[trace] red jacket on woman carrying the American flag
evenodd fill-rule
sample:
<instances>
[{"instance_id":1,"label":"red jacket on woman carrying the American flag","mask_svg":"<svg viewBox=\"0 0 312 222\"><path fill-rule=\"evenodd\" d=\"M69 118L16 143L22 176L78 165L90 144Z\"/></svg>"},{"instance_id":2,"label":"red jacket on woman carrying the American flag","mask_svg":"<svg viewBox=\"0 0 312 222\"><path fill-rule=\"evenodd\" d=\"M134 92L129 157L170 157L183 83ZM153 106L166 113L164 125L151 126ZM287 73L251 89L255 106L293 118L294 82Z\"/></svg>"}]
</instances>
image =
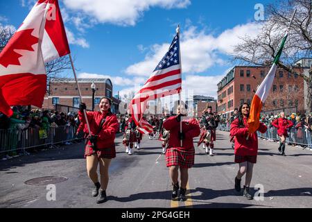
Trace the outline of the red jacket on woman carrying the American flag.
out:
<instances>
[{"instance_id":1,"label":"red jacket on woman carrying the American flag","mask_svg":"<svg viewBox=\"0 0 312 222\"><path fill-rule=\"evenodd\" d=\"M193 137L198 137L200 135L200 127L196 119L189 119L187 121L182 121L182 132L185 138L181 141L178 138L178 133L180 132L180 122L177 121L177 117L169 117L164 121L163 126L166 130L170 131L170 136L168 139L168 147L178 147L182 149L194 148Z\"/></svg>"}]
</instances>

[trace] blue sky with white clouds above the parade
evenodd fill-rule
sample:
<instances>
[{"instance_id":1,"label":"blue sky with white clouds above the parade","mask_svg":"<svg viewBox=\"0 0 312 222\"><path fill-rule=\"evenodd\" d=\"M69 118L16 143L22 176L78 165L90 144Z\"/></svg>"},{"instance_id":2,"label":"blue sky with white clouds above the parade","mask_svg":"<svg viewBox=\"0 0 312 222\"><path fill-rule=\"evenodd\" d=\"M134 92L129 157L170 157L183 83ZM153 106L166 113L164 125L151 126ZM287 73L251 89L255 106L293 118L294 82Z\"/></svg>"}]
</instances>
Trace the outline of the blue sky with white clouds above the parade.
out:
<instances>
[{"instance_id":1,"label":"blue sky with white clouds above the parade","mask_svg":"<svg viewBox=\"0 0 312 222\"><path fill-rule=\"evenodd\" d=\"M59 0L79 77L110 77L114 94L138 89L162 59L180 24L183 85L216 97L234 66L239 36L255 36L254 6L269 0ZM0 26L18 28L33 0L0 1ZM73 78L68 71L65 76Z\"/></svg>"}]
</instances>

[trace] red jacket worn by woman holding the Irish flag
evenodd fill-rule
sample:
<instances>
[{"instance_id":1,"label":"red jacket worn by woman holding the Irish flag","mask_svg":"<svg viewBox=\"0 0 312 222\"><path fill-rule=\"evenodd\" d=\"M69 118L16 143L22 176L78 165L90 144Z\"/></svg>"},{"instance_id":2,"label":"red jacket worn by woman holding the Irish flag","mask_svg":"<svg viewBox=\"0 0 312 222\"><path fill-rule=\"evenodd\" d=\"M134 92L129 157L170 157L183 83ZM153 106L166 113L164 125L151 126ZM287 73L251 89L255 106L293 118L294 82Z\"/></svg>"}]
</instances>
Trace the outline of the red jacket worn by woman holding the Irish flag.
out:
<instances>
[{"instance_id":1,"label":"red jacket worn by woman holding the Irish flag","mask_svg":"<svg viewBox=\"0 0 312 222\"><path fill-rule=\"evenodd\" d=\"M234 119L231 123L230 134L235 137L234 153L235 155L257 155L258 154L258 135L252 133L248 140L248 118L244 118L245 127L239 127L239 118ZM258 130L260 133L266 133L267 127L260 123Z\"/></svg>"}]
</instances>

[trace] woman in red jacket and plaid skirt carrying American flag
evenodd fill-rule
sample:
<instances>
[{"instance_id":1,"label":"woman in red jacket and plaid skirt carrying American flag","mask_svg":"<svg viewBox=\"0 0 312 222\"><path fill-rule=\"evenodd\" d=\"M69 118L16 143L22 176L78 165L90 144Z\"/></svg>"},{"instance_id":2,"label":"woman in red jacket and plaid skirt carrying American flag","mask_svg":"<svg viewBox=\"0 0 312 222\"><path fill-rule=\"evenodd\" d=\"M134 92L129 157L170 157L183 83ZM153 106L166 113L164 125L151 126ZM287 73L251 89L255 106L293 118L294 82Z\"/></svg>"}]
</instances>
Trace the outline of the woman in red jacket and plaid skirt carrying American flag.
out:
<instances>
[{"instance_id":1,"label":"woman in red jacket and plaid skirt carrying American flag","mask_svg":"<svg viewBox=\"0 0 312 222\"><path fill-rule=\"evenodd\" d=\"M184 106L179 105L177 107L177 116L169 117L163 123L164 128L170 131L168 148L166 149L166 166L169 167L169 175L173 185L171 196L172 198L177 197L177 191L179 189L178 170L180 168L180 201L187 200L185 193L187 191L187 181L189 180L188 170L193 166L195 156L193 137L200 135L200 127L196 119L182 121L182 116L185 116L187 113ZM180 121L182 121L182 133L180 133Z\"/></svg>"}]
</instances>

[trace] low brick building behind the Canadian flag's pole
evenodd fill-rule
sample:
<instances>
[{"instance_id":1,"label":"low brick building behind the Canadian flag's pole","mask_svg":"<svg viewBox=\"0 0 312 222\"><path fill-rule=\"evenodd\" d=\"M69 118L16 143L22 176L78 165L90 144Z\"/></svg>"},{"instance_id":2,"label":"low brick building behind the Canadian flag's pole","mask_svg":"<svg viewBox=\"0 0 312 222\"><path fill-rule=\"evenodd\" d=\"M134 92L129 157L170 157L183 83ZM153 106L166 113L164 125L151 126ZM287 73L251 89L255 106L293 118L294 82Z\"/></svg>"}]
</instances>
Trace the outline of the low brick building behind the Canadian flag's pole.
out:
<instances>
[{"instance_id":1,"label":"low brick building behind the Canadian flag's pole","mask_svg":"<svg viewBox=\"0 0 312 222\"><path fill-rule=\"evenodd\" d=\"M98 110L98 104L103 96L112 99L112 112L116 113L120 101L112 97L113 85L109 78L78 78L83 102L87 109L92 110L92 82L95 84L94 110ZM48 93L44 97L44 109L54 109L55 104L79 107L80 99L78 87L74 78L51 79L48 83Z\"/></svg>"}]
</instances>

